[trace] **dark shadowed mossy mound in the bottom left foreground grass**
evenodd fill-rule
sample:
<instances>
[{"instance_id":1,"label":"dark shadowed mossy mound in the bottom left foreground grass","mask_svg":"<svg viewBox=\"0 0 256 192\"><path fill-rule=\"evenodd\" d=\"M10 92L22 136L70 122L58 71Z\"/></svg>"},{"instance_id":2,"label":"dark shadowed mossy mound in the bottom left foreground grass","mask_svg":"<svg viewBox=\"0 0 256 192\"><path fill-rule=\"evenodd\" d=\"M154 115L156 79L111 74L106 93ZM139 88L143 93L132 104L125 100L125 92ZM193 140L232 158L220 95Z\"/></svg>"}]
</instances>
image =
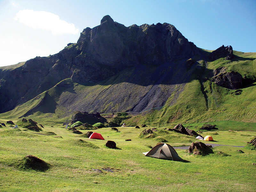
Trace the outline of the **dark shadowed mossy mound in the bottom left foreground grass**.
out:
<instances>
[{"instance_id":1,"label":"dark shadowed mossy mound in the bottom left foreground grass","mask_svg":"<svg viewBox=\"0 0 256 192\"><path fill-rule=\"evenodd\" d=\"M35 171L46 171L50 168L50 164L44 162L33 155L27 155L21 159L17 164L14 165L17 169L21 170L35 170Z\"/></svg>"}]
</instances>

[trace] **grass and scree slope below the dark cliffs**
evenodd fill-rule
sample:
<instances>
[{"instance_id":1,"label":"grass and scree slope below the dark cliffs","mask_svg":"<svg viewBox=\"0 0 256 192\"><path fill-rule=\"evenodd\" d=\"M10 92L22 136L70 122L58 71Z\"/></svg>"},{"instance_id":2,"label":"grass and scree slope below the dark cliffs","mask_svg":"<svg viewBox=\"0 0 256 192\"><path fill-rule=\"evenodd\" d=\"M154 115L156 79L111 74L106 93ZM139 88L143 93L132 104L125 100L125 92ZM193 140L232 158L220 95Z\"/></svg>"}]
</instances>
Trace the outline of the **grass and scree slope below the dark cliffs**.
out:
<instances>
[{"instance_id":1,"label":"grass and scree slope below the dark cliffs","mask_svg":"<svg viewBox=\"0 0 256 192\"><path fill-rule=\"evenodd\" d=\"M237 121L256 123L256 83L230 90L210 81L213 70L225 67L242 76L256 76L256 53L235 52L235 58L212 62L198 60L192 68L184 62L160 66L125 68L97 84L79 84L65 79L12 111L3 119L21 116L59 123L74 111L112 114L131 112L130 125L170 125Z\"/></svg>"}]
</instances>

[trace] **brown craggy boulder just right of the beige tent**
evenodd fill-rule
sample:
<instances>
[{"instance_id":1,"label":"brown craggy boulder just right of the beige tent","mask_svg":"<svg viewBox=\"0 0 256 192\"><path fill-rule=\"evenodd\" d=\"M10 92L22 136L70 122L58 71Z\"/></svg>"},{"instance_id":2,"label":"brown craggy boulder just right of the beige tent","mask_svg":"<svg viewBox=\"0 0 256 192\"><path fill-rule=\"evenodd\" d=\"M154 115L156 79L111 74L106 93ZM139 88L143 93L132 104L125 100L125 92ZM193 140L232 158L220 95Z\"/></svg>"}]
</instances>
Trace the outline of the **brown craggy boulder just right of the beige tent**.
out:
<instances>
[{"instance_id":1,"label":"brown craggy boulder just right of the beige tent","mask_svg":"<svg viewBox=\"0 0 256 192\"><path fill-rule=\"evenodd\" d=\"M191 143L188 151L189 153L193 153L194 155L208 155L210 153L213 153L212 147L207 146L200 141Z\"/></svg>"}]
</instances>

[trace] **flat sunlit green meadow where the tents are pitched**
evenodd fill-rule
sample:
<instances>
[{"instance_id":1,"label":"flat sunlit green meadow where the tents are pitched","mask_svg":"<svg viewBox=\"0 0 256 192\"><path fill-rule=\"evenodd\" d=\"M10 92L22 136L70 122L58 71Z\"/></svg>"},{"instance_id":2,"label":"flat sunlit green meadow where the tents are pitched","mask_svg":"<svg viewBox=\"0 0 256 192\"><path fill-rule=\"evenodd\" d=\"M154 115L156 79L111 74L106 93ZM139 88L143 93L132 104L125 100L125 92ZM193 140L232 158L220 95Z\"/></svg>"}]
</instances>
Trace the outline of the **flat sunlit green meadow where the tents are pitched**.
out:
<instances>
[{"instance_id":1,"label":"flat sunlit green meadow where the tents are pitched","mask_svg":"<svg viewBox=\"0 0 256 192\"><path fill-rule=\"evenodd\" d=\"M84 137L84 134L74 134L60 124L38 123L44 125L41 132L22 127L12 129L8 124L0 128L0 191L256 190L255 150L216 146L213 154L194 156L185 149L176 149L178 155L188 161L179 162L142 154L160 141L173 147L189 146L196 141L191 136L165 131L164 127L157 127L158 132L146 137L139 137L144 128L117 127L120 132L101 128L93 132L101 133L105 140L92 140ZM237 131L235 123L231 124L233 131L228 131L226 127L221 129L221 123L217 126L219 130L204 131L201 133L203 136L212 135L215 141L202 142L245 146L246 142L252 140L255 132L247 129L247 125L239 124L243 131ZM186 124L194 130L198 125ZM107 140L115 141L117 148L107 148ZM238 149L244 153L239 153ZM44 172L19 168L17 164L27 155L44 160L50 164L50 168ZM113 172L109 172L109 169Z\"/></svg>"}]
</instances>

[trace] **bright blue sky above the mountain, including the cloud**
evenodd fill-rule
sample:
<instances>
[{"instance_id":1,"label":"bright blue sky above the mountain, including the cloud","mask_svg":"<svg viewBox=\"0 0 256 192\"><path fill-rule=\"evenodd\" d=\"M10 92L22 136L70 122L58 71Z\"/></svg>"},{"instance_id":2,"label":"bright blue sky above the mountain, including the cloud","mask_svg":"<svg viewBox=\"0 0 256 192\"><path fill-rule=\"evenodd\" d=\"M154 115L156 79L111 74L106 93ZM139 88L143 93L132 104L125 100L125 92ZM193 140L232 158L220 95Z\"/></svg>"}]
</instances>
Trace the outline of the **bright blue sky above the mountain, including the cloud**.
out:
<instances>
[{"instance_id":1,"label":"bright blue sky above the mountain, including the cloud","mask_svg":"<svg viewBox=\"0 0 256 192\"><path fill-rule=\"evenodd\" d=\"M255 0L0 0L0 66L60 52L86 27L170 23L197 47L256 52Z\"/></svg>"}]
</instances>

